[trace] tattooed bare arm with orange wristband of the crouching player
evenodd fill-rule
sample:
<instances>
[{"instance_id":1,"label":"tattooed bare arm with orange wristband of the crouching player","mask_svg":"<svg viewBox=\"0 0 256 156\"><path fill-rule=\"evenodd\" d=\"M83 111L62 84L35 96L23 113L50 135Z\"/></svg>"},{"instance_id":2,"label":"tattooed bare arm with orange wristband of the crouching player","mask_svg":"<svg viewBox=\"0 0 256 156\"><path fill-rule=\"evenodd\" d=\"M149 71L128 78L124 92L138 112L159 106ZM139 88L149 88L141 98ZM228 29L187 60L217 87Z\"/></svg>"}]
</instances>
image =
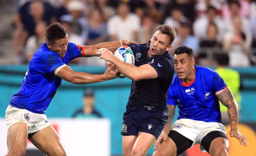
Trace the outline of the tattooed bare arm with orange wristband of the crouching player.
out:
<instances>
[{"instance_id":1,"label":"tattooed bare arm with orange wristband of the crouching player","mask_svg":"<svg viewBox=\"0 0 256 156\"><path fill-rule=\"evenodd\" d=\"M247 146L246 137L238 130L238 104L236 103L232 92L229 88L226 88L219 93L217 92L216 96L223 105L228 107L228 117L231 126L231 130L229 132L230 136L237 138L241 145L244 144L244 146Z\"/></svg>"}]
</instances>

